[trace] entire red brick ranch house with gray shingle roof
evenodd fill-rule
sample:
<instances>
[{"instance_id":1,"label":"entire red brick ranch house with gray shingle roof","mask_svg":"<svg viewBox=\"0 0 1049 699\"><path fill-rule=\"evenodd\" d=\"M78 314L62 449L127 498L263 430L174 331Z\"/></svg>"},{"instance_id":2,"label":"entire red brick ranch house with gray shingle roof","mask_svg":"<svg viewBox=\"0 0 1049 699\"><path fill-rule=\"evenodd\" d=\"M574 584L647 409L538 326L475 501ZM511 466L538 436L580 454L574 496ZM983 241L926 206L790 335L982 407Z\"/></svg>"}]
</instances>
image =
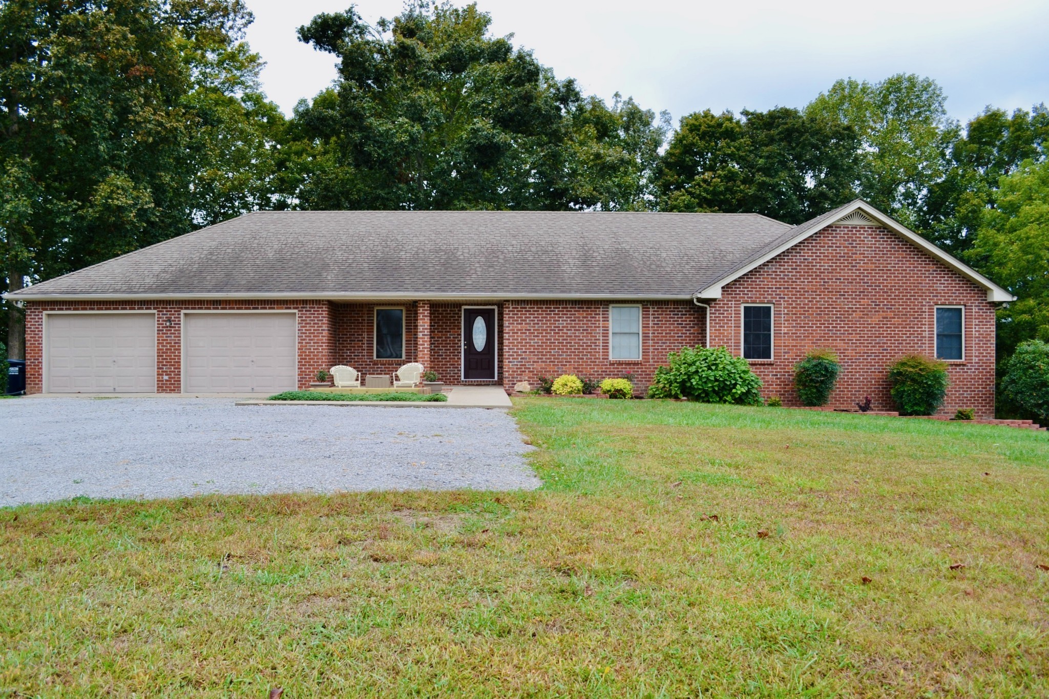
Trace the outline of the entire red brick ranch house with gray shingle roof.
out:
<instances>
[{"instance_id":1,"label":"entire red brick ranch house with gray shingle roof","mask_svg":"<svg viewBox=\"0 0 1049 699\"><path fill-rule=\"evenodd\" d=\"M1009 292L856 200L800 225L754 214L258 212L8 299L26 309L27 389L257 392L319 369L507 388L630 374L725 346L765 397L837 351L831 398L890 409L886 368L949 363L945 411L994 409L994 307Z\"/></svg>"}]
</instances>

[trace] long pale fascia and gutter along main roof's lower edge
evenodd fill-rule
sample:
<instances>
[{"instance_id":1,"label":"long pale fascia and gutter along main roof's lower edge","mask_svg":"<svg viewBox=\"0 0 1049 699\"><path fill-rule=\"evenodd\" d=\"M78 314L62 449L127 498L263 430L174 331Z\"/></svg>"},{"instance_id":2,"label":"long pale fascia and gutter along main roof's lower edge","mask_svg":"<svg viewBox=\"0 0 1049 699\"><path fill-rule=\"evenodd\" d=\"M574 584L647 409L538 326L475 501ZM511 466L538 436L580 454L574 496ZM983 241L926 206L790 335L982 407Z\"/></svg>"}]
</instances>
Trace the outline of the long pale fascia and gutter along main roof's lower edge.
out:
<instances>
[{"instance_id":1,"label":"long pale fascia and gutter along main roof's lower edge","mask_svg":"<svg viewBox=\"0 0 1049 699\"><path fill-rule=\"evenodd\" d=\"M692 294L627 293L39 293L10 301L691 301Z\"/></svg>"}]
</instances>

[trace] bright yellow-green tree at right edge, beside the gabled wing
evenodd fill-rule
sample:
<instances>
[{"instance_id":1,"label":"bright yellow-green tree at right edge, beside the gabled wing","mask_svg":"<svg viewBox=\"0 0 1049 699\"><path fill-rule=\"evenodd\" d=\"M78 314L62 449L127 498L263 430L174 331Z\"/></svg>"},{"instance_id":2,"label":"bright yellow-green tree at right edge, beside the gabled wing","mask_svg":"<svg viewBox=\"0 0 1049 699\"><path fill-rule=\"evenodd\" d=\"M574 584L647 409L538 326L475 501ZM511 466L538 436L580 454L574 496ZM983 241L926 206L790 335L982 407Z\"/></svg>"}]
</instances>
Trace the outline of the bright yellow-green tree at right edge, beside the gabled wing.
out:
<instances>
[{"instance_id":1,"label":"bright yellow-green tree at right edge, beside the gabled wing","mask_svg":"<svg viewBox=\"0 0 1049 699\"><path fill-rule=\"evenodd\" d=\"M998 311L1007 356L1025 340L1049 342L1049 161L1025 161L992 196L966 258L1018 297Z\"/></svg>"}]
</instances>

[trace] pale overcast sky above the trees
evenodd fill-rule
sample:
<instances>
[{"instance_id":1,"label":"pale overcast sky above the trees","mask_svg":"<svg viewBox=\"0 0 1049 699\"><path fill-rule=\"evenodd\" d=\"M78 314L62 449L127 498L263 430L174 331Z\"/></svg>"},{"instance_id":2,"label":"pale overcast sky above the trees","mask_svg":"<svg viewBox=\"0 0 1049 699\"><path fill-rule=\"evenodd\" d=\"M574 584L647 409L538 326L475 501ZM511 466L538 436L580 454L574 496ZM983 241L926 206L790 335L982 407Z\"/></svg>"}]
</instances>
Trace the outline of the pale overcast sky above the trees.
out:
<instances>
[{"instance_id":1,"label":"pale overcast sky above the trees","mask_svg":"<svg viewBox=\"0 0 1049 699\"><path fill-rule=\"evenodd\" d=\"M291 113L335 78L335 57L295 29L349 0L248 0L252 47L267 66L263 89ZM369 22L401 0L358 0ZM466 4L457 2L456 4ZM934 78L951 116L988 105L1049 103L1046 0L478 0L492 31L514 34L559 79L587 94L617 90L643 107L683 114L710 108L801 107L835 80L896 72Z\"/></svg>"}]
</instances>

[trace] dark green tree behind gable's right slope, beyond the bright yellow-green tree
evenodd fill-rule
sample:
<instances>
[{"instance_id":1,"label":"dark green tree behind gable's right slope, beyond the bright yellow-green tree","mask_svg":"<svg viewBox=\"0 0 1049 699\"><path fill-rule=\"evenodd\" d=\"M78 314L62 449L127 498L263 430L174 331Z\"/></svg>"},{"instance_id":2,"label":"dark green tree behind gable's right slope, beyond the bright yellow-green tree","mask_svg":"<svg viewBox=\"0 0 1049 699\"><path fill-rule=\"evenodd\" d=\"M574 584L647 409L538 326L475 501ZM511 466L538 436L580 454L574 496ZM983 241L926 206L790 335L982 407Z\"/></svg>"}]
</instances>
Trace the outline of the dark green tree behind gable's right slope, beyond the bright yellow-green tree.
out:
<instances>
[{"instance_id":1,"label":"dark green tree behind gable's right slope, beyond the bright yellow-green tree","mask_svg":"<svg viewBox=\"0 0 1049 699\"><path fill-rule=\"evenodd\" d=\"M1041 160L1049 148L1049 110L987 107L948 151L944 177L928 188L919 231L954 255L972 246L984 212L994 205L1001 177L1024 160Z\"/></svg>"}]
</instances>

